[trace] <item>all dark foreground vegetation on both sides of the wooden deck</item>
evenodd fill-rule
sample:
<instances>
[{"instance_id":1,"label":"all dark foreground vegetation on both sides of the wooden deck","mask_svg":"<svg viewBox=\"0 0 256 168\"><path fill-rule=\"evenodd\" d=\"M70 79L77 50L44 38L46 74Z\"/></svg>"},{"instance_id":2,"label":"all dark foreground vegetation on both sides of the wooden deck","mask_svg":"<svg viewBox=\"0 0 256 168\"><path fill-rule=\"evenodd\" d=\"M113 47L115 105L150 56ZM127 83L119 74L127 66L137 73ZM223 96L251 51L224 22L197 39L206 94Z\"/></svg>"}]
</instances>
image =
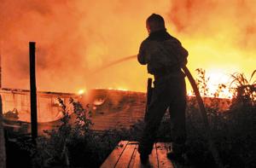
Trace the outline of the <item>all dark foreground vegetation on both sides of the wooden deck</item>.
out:
<instances>
[{"instance_id":1,"label":"all dark foreground vegetation on both sides of the wooden deck","mask_svg":"<svg viewBox=\"0 0 256 168\"><path fill-rule=\"evenodd\" d=\"M201 73L197 78L198 87L202 94L206 94L208 79L204 71L198 72ZM255 71L251 81L254 74ZM256 167L255 82L250 82L240 73L232 76L236 88L230 109L221 111L218 99L212 99L207 105L213 142L225 167ZM225 84L220 84L214 96L218 97L225 87ZM98 167L120 140L138 141L142 135L143 121L138 121L130 129L92 131L90 128L93 124L88 118L90 111L72 99L70 103L73 104L76 121L71 125L67 107L61 99L59 101L64 116L61 119L62 125L57 130L45 130L46 136L38 137L37 147L28 141L19 143L20 148L31 154L33 167ZM201 113L193 97L189 98L186 118L189 165L214 167L214 160L203 134ZM166 113L157 141L172 142L170 132L170 119Z\"/></svg>"}]
</instances>

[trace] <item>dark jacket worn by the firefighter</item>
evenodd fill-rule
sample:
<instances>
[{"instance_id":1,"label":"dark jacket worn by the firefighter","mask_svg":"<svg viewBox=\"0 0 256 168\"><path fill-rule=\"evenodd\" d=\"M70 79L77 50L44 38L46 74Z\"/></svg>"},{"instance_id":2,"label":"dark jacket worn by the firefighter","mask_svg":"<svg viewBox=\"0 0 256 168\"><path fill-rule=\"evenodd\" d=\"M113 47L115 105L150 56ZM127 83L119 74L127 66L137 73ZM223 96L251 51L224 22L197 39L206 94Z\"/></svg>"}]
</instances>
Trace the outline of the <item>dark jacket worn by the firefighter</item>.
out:
<instances>
[{"instance_id":1,"label":"dark jacket worn by the firefighter","mask_svg":"<svg viewBox=\"0 0 256 168\"><path fill-rule=\"evenodd\" d=\"M147 64L148 73L154 76L180 76L183 75L181 67L186 65L188 55L177 38L161 30L150 33L143 41L137 59L142 65Z\"/></svg>"}]
</instances>

